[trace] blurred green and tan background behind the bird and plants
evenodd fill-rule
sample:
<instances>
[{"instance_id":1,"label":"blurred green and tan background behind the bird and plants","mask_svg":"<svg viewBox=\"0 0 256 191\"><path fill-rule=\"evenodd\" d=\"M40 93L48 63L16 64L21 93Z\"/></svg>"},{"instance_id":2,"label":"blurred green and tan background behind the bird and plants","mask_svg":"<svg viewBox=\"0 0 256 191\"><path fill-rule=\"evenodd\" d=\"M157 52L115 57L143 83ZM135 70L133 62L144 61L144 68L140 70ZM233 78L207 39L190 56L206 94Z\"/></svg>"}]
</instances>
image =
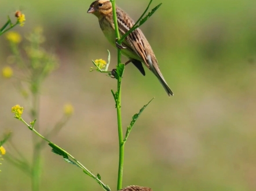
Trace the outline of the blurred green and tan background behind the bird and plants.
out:
<instances>
[{"instance_id":1,"label":"blurred green and tan background behind the bird and plants","mask_svg":"<svg viewBox=\"0 0 256 191\"><path fill-rule=\"evenodd\" d=\"M126 67L123 126L156 98L127 141L123 186L149 186L154 191L256 190L256 1L154 0L152 4L160 2L163 5L141 29L174 96L167 97L149 70L143 77L134 66ZM92 59L107 59L107 49L110 67L115 68L116 51L97 18L86 13L90 3L2 0L0 25L21 9L26 22L15 31L26 35L38 25L43 27L44 46L54 50L60 67L43 83L42 131L61 117L63 104L72 103L74 117L52 141L116 190L118 133L110 91L116 81L89 72ZM117 0L134 20L147 3ZM9 54L8 42L1 36L1 69L8 65ZM0 133L12 130L13 142L30 159L31 132L10 113L15 104L25 108L28 104L12 80L1 77L0 89ZM26 114L24 118L31 120ZM30 190L28 177L7 160L2 163L1 190ZM102 190L50 148L43 151L43 163L41 190Z\"/></svg>"}]
</instances>

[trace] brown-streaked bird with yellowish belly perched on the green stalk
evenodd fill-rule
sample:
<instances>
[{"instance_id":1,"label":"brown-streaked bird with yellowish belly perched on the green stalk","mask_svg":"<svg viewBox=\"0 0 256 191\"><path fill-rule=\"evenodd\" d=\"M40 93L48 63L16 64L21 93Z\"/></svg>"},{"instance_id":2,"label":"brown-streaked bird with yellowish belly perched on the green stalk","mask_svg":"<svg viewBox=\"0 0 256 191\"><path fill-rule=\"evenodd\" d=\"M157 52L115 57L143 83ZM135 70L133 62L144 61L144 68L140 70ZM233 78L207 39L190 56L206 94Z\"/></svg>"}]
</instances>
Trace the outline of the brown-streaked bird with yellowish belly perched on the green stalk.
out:
<instances>
[{"instance_id":1,"label":"brown-streaked bird with yellowish belly perched on the green stalk","mask_svg":"<svg viewBox=\"0 0 256 191\"><path fill-rule=\"evenodd\" d=\"M105 38L108 39L112 46L118 46L116 44L112 3L109 0L96 0L92 2L90 8L87 10L87 13L92 13L98 17L98 23L100 24L100 28L103 31ZM122 35L129 31L129 29L133 27L135 23L133 19L118 6L116 6L116 16L119 33L122 37ZM155 54L153 53L148 40L145 38L140 28L137 28L131 32L126 39L123 40L123 44L119 45L118 47L122 47L121 53L129 58L129 61L127 61L125 65L132 62L134 66L140 70L141 74L145 76L145 70L142 66L142 63L144 63L144 65L158 78L160 83L163 85L163 88L167 92L167 95L173 95L173 92L167 85L162 73L160 72Z\"/></svg>"}]
</instances>

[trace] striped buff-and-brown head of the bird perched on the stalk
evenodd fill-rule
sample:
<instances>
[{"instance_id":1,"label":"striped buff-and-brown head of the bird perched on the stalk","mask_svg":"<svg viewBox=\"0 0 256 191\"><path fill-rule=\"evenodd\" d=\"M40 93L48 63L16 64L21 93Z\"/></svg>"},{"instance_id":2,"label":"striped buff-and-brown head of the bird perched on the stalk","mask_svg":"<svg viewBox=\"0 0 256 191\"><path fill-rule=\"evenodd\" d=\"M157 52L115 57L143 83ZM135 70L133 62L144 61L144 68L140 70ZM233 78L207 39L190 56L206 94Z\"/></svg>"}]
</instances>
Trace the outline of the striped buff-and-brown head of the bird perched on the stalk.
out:
<instances>
[{"instance_id":1,"label":"striped buff-and-brown head of the bird perched on the stalk","mask_svg":"<svg viewBox=\"0 0 256 191\"><path fill-rule=\"evenodd\" d=\"M109 0L94 1L87 10L87 13L93 13L97 17L109 14L109 12L112 12L112 4Z\"/></svg>"}]
</instances>

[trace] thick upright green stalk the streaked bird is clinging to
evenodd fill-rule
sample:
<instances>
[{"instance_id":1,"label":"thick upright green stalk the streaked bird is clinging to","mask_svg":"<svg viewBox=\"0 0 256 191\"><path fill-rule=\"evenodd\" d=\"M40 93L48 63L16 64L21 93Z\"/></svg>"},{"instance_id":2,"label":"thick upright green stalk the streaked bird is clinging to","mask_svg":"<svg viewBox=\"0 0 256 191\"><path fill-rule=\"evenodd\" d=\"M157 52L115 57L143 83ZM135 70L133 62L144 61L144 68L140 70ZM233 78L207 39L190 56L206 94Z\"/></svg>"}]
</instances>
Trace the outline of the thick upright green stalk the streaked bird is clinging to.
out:
<instances>
[{"instance_id":1,"label":"thick upright green stalk the streaked bird is clinging to","mask_svg":"<svg viewBox=\"0 0 256 191\"><path fill-rule=\"evenodd\" d=\"M116 39L119 43L120 35L118 30L118 20L116 17L115 0L111 1L113 9L113 19L115 24ZM121 50L118 48L118 66L121 64ZM122 77L118 75L118 90L116 91L116 113L118 115L118 138L119 138L119 165L118 165L118 185L117 190L122 189L123 181L123 158L125 152L125 145L123 144L123 129L122 129L122 115L121 115L121 82Z\"/></svg>"}]
</instances>

